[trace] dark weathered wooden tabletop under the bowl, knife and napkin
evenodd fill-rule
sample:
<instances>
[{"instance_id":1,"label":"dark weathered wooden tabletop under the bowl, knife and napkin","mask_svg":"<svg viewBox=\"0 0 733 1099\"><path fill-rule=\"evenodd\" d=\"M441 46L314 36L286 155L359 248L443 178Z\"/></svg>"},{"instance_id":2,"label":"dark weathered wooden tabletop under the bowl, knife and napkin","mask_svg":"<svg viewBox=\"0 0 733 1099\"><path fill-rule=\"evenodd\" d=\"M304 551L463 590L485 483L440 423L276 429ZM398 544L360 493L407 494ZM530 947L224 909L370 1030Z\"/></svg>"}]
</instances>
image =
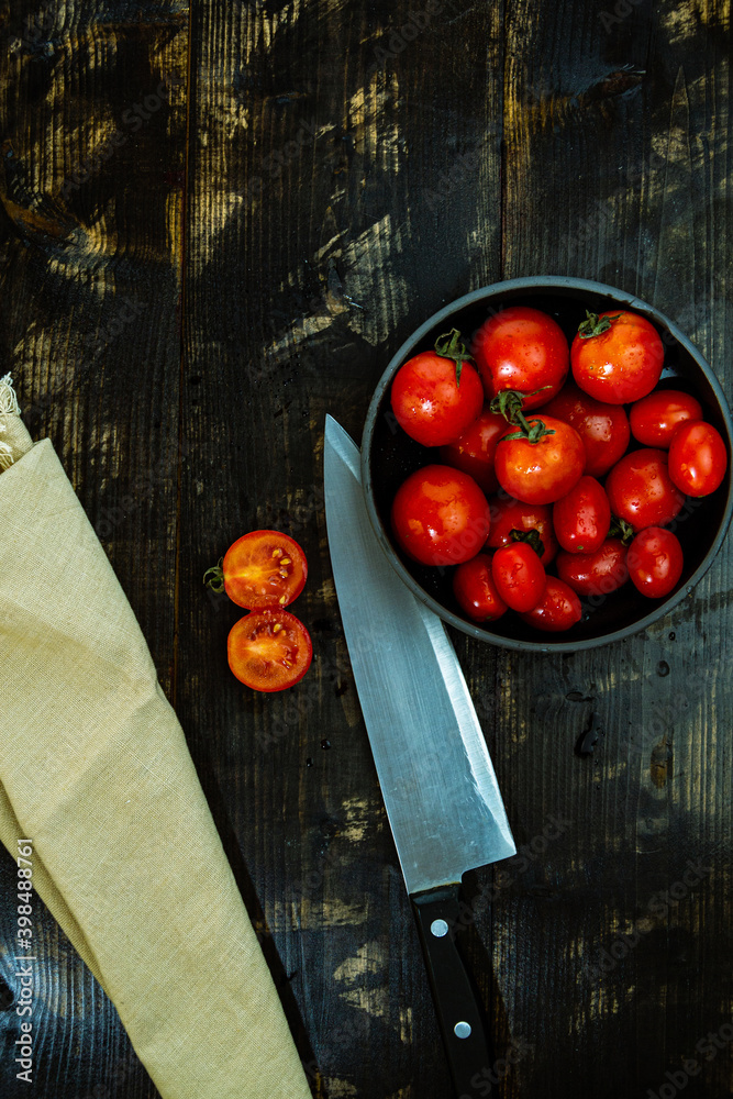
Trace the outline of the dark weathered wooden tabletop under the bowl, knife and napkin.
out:
<instances>
[{"instance_id":1,"label":"dark weathered wooden tabletop under the bowl, knife and napkin","mask_svg":"<svg viewBox=\"0 0 733 1099\"><path fill-rule=\"evenodd\" d=\"M532 274L653 302L730 393L730 4L10 0L1 19L0 369L138 615L314 1095L445 1099L334 597L324 415L358 440L419 323ZM259 526L311 566L316 658L271 697L230 675L237 611L201 584ZM595 652L455 636L524 846L501 885L468 881L514 1062L491 1095L733 1091L731 559L729 540L668 619ZM7 1099L31 1094L12 878L2 852ZM154 1096L47 913L36 930L32 1094Z\"/></svg>"}]
</instances>

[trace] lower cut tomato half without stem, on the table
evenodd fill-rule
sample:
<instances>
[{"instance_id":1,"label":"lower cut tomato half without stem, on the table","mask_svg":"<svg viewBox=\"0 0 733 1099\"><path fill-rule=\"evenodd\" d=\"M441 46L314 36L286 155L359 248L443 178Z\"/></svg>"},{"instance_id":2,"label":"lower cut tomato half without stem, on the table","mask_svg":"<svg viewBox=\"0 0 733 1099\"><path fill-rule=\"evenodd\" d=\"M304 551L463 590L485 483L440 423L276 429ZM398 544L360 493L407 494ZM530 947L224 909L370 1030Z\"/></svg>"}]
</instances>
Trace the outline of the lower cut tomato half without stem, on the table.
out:
<instances>
[{"instance_id":1,"label":"lower cut tomato half without stem, on the table","mask_svg":"<svg viewBox=\"0 0 733 1099\"><path fill-rule=\"evenodd\" d=\"M308 671L313 646L303 623L289 611L251 611L235 622L226 641L229 666L243 684L260 691L292 687Z\"/></svg>"}]
</instances>

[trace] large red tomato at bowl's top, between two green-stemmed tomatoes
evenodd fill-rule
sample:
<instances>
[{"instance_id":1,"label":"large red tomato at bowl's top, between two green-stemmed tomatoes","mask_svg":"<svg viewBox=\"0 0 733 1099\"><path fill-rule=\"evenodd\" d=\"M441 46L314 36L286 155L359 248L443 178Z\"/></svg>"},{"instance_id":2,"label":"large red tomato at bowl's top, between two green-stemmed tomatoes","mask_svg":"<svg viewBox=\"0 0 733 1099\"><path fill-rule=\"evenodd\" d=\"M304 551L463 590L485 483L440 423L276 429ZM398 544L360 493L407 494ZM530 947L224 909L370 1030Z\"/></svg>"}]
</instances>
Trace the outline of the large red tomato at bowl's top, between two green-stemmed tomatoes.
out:
<instances>
[{"instance_id":1,"label":"large red tomato at bowl's top, between two green-stemmed tomatoes","mask_svg":"<svg viewBox=\"0 0 733 1099\"><path fill-rule=\"evenodd\" d=\"M510 306L489 318L478 330L471 349L489 400L502 389L523 393L543 389L525 399L525 412L555 396L570 362L559 324L527 306Z\"/></svg>"}]
</instances>

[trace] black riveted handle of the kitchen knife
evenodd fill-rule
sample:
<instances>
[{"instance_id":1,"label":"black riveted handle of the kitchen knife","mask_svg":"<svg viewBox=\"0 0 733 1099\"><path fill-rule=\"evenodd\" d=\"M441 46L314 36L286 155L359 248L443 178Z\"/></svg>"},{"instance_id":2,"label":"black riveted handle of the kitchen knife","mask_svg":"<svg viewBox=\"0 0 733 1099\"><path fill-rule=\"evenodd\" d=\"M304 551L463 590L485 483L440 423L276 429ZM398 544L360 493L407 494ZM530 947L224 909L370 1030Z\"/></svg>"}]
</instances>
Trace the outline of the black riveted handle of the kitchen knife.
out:
<instances>
[{"instance_id":1,"label":"black riveted handle of the kitchen knife","mask_svg":"<svg viewBox=\"0 0 733 1099\"><path fill-rule=\"evenodd\" d=\"M456 946L459 885L411 897L435 1011L458 1099L487 1095L495 1057L473 984Z\"/></svg>"}]
</instances>

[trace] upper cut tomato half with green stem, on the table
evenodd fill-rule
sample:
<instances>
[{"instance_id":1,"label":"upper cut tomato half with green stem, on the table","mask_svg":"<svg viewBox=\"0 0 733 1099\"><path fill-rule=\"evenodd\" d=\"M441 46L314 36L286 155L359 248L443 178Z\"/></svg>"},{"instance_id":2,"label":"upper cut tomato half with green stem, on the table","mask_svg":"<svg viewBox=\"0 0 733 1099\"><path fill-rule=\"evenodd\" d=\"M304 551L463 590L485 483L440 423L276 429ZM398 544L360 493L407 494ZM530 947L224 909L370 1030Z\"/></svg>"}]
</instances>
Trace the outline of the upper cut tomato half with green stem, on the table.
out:
<instances>
[{"instance_id":1,"label":"upper cut tomato half with green stem, on the table","mask_svg":"<svg viewBox=\"0 0 733 1099\"><path fill-rule=\"evenodd\" d=\"M279 531L251 531L229 547L221 565L207 569L203 579L238 607L262 610L291 603L307 576L306 554L297 542Z\"/></svg>"}]
</instances>

